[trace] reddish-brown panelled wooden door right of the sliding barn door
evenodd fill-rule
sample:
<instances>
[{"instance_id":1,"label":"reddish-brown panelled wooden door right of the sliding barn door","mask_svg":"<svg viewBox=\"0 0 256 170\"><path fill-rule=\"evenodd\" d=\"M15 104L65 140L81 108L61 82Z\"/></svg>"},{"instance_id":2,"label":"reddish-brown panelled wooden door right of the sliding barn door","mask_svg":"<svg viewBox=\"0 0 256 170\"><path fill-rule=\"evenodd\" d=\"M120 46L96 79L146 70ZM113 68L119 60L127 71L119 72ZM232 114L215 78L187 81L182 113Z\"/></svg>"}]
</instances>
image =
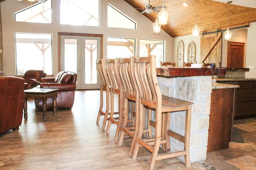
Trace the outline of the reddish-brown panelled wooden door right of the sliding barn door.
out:
<instances>
[{"instance_id":1,"label":"reddish-brown panelled wooden door right of the sliding barn door","mask_svg":"<svg viewBox=\"0 0 256 170\"><path fill-rule=\"evenodd\" d=\"M244 43L228 42L227 67L244 67Z\"/></svg>"}]
</instances>

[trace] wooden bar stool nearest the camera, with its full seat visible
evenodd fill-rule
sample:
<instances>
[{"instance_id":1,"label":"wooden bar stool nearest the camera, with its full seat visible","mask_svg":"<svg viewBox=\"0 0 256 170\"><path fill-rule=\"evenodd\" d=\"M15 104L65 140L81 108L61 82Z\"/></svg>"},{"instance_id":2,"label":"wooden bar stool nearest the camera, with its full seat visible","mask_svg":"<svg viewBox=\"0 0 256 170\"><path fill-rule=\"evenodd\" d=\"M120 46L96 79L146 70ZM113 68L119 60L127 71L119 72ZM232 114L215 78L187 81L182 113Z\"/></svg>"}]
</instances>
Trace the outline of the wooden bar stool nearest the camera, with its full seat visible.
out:
<instances>
[{"instance_id":1,"label":"wooden bar stool nearest the camera, with its full seat visible","mask_svg":"<svg viewBox=\"0 0 256 170\"><path fill-rule=\"evenodd\" d=\"M135 84L138 85L140 92L140 112L136 117L136 129L132 145L134 152L132 159L135 160L140 145L148 149L151 154L149 169L154 169L156 160L185 156L185 166L190 166L189 141L190 141L190 122L192 102L180 100L171 97L162 98L158 80L156 77L156 58L150 57L131 57L131 63L134 63ZM133 64L131 64L133 66ZM137 94L138 95L138 94ZM154 138L143 139L143 115L145 107L154 110L155 121L150 120L149 126L155 127ZM169 129L170 114L175 111L186 111L185 135L182 136ZM184 150L170 152L170 136L184 143ZM167 153L158 154L160 145Z\"/></svg>"}]
</instances>

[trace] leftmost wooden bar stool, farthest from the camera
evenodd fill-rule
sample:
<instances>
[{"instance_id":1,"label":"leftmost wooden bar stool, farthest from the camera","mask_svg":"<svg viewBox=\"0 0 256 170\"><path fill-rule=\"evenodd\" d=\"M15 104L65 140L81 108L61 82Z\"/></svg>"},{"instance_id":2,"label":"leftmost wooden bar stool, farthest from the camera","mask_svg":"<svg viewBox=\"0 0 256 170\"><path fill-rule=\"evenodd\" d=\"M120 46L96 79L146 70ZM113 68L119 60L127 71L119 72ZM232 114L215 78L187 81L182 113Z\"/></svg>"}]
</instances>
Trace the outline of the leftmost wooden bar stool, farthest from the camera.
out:
<instances>
[{"instance_id":1,"label":"leftmost wooden bar stool, farthest from the camera","mask_svg":"<svg viewBox=\"0 0 256 170\"><path fill-rule=\"evenodd\" d=\"M99 59L96 60L96 70L98 73L98 77L100 79L100 109L98 112L98 117L97 117L97 121L96 124L99 124L100 121L100 116L104 116L104 120L103 120L103 124L102 124L102 130L105 129L106 127L106 122L108 120L108 115L110 114L109 112L109 98L110 98L110 83L108 80L108 76L107 76L107 72L105 69L106 66L106 59ZM103 108L103 93L106 92L106 110L102 111Z\"/></svg>"}]
</instances>

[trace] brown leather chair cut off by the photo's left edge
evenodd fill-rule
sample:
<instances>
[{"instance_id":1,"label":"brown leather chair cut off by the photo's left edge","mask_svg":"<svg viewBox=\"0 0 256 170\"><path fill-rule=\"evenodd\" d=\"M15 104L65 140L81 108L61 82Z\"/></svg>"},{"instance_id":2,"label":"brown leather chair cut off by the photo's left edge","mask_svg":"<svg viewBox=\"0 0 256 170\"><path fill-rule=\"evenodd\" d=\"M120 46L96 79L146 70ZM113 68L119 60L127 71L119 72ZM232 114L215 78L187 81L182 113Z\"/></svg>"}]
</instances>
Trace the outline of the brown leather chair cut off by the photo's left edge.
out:
<instances>
[{"instance_id":1,"label":"brown leather chair cut off by the photo's left edge","mask_svg":"<svg viewBox=\"0 0 256 170\"><path fill-rule=\"evenodd\" d=\"M0 134L17 130L22 122L25 100L24 79L0 77Z\"/></svg>"}]
</instances>

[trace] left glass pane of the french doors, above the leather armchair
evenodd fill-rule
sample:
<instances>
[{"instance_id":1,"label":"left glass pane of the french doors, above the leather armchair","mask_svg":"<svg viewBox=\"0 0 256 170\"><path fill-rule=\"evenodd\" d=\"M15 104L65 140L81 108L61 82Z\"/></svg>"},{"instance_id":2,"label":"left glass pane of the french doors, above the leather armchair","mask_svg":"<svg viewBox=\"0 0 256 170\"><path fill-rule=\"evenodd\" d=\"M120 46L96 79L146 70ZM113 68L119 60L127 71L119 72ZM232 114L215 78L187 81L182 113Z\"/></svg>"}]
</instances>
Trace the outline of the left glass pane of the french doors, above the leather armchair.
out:
<instances>
[{"instance_id":1,"label":"left glass pane of the french doors, above the leather armchair","mask_svg":"<svg viewBox=\"0 0 256 170\"><path fill-rule=\"evenodd\" d=\"M77 40L65 39L64 68L66 71L77 72Z\"/></svg>"}]
</instances>

